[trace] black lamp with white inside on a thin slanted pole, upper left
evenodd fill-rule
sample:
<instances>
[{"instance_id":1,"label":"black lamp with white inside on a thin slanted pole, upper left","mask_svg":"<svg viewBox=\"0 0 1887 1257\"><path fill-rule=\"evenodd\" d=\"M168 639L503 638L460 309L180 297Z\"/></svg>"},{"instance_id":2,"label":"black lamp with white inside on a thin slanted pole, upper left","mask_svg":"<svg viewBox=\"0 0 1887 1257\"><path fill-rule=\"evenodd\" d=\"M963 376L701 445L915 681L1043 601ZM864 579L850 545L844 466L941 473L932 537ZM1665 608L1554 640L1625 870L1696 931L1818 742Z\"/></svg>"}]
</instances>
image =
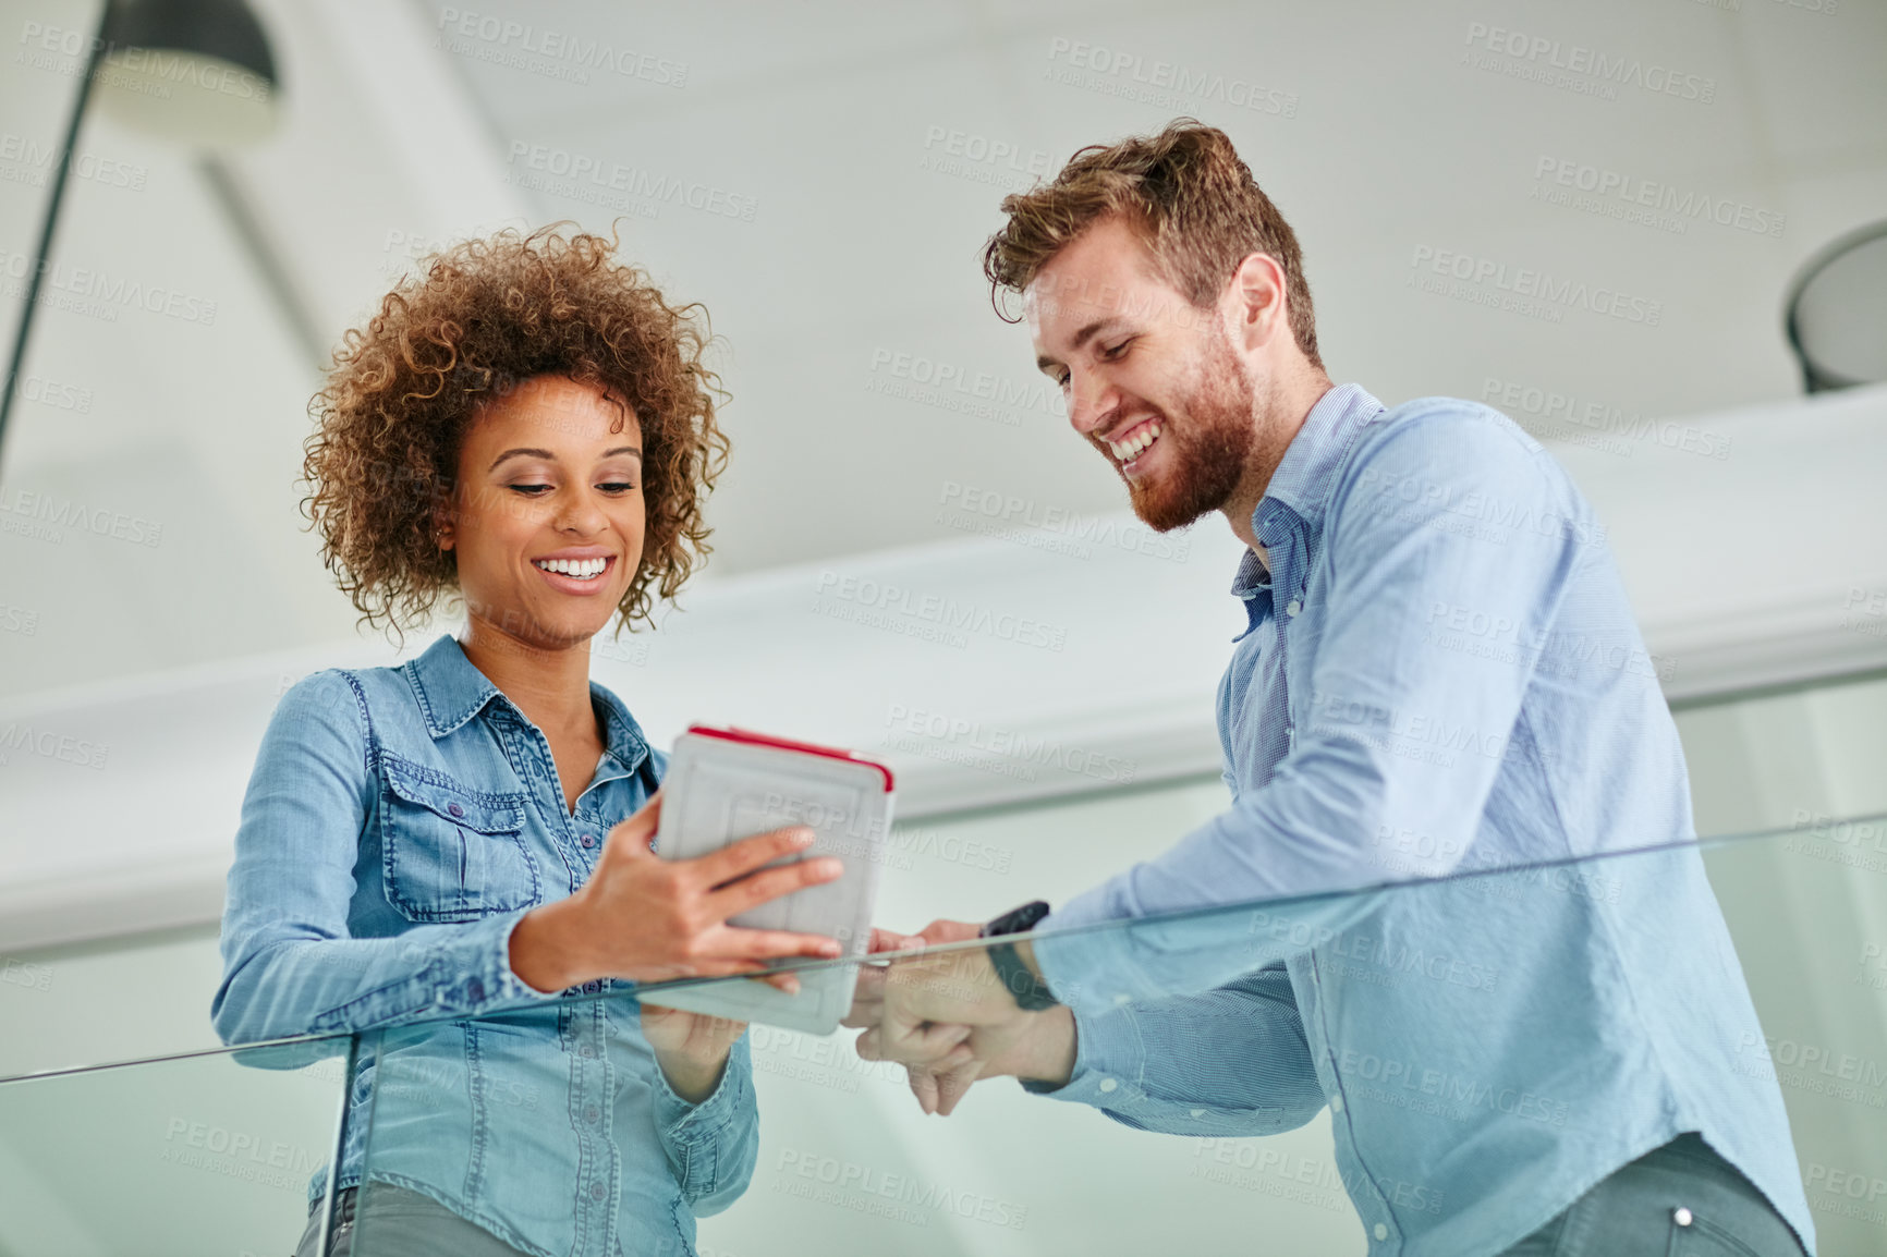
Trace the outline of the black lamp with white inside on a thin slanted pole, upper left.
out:
<instances>
[{"instance_id":1,"label":"black lamp with white inside on a thin slanted pole, upper left","mask_svg":"<svg viewBox=\"0 0 1887 1257\"><path fill-rule=\"evenodd\" d=\"M0 393L0 444L26 360L40 279L53 255L53 228L79 125L94 91L100 108L125 126L192 147L260 140L276 128L279 109L276 59L243 0L106 0L58 151L40 249L26 276L26 304L13 338L6 393Z\"/></svg>"}]
</instances>

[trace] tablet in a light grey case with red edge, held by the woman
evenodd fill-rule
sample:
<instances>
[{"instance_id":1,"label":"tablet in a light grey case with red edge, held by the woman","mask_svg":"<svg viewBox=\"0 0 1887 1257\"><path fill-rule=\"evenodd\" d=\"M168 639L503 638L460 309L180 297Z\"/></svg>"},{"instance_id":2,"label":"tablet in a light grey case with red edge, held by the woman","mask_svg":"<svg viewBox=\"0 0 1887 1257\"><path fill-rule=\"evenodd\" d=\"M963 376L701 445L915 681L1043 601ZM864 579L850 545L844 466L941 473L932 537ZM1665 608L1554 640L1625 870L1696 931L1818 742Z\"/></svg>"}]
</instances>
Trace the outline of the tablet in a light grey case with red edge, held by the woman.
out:
<instances>
[{"instance_id":1,"label":"tablet in a light grey case with red edge, held by the woman","mask_svg":"<svg viewBox=\"0 0 1887 1257\"><path fill-rule=\"evenodd\" d=\"M893 798L891 770L853 751L694 725L676 738L668 757L655 853L687 861L787 825L810 827L813 844L776 864L834 855L845 872L825 885L732 915L728 925L827 934L838 938L845 959L855 961L872 942L872 908L889 849ZM851 1010L857 981L857 963L834 963L830 968L800 970L798 995L762 981L723 980L657 987L640 998L662 1008L830 1034Z\"/></svg>"}]
</instances>

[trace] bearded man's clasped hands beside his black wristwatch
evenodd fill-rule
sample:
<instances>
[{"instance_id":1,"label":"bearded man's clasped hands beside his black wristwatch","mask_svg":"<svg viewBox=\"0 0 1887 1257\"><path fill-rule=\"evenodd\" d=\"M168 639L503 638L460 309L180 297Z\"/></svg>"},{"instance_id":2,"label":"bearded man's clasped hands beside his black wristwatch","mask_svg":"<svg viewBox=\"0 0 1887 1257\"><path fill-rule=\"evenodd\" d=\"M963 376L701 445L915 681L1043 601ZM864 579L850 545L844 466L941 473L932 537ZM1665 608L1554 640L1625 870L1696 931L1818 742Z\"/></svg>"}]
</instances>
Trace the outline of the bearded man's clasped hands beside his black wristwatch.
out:
<instances>
[{"instance_id":1,"label":"bearded man's clasped hands beside his black wristwatch","mask_svg":"<svg viewBox=\"0 0 1887 1257\"><path fill-rule=\"evenodd\" d=\"M970 921L932 921L915 938L874 930L872 951L962 942L979 929ZM908 957L860 974L845 1025L868 1027L859 1036L862 1059L906 1066L927 1114L949 1115L979 1078L1064 1083L1074 1072L1074 1014L1059 1006L1017 1008L981 947Z\"/></svg>"}]
</instances>

